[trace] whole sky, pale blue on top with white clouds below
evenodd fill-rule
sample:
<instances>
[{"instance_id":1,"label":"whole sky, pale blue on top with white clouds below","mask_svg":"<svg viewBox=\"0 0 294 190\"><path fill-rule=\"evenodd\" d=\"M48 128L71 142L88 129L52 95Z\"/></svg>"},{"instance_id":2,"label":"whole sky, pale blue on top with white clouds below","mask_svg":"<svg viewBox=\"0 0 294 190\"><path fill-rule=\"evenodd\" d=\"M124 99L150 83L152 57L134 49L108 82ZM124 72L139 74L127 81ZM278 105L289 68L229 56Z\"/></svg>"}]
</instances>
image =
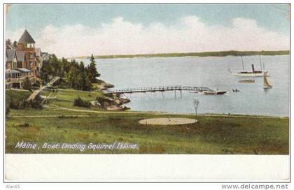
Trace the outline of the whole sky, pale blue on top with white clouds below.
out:
<instances>
[{"instance_id":1,"label":"whole sky, pale blue on top with white clouds below","mask_svg":"<svg viewBox=\"0 0 294 190\"><path fill-rule=\"evenodd\" d=\"M6 38L25 29L41 50L83 55L289 50L283 4L14 4Z\"/></svg>"}]
</instances>

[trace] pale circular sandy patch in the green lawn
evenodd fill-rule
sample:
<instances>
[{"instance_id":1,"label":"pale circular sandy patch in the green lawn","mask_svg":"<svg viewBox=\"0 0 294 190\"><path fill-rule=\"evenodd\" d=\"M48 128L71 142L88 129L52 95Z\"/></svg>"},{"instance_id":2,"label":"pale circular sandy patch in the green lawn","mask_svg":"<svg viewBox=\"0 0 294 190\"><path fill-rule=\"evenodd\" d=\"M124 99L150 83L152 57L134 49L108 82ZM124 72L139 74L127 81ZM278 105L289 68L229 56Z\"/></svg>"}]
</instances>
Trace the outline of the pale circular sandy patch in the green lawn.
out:
<instances>
[{"instance_id":1,"label":"pale circular sandy patch in the green lawn","mask_svg":"<svg viewBox=\"0 0 294 190\"><path fill-rule=\"evenodd\" d=\"M171 117L171 118L153 118L153 119L142 119L139 121L140 124L151 124L151 125L176 125L176 124L194 124L196 119Z\"/></svg>"}]
</instances>

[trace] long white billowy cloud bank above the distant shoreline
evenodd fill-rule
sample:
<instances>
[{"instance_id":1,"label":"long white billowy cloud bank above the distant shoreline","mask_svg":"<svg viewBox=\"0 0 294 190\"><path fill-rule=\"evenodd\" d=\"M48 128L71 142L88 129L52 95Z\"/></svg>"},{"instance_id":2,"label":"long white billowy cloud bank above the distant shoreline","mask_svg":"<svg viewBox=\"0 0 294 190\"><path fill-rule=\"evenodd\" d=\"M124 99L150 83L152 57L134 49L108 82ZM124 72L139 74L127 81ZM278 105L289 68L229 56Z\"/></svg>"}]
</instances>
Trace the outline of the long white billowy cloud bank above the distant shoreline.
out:
<instances>
[{"instance_id":1,"label":"long white billowy cloud bank above the distant shoreline","mask_svg":"<svg viewBox=\"0 0 294 190\"><path fill-rule=\"evenodd\" d=\"M15 31L10 36L20 37L20 34ZM123 17L98 27L48 25L35 41L43 50L58 57L290 48L288 34L269 31L258 26L255 20L235 18L230 26L211 26L193 15L182 17L174 25L160 22L144 25L125 21Z\"/></svg>"}]
</instances>

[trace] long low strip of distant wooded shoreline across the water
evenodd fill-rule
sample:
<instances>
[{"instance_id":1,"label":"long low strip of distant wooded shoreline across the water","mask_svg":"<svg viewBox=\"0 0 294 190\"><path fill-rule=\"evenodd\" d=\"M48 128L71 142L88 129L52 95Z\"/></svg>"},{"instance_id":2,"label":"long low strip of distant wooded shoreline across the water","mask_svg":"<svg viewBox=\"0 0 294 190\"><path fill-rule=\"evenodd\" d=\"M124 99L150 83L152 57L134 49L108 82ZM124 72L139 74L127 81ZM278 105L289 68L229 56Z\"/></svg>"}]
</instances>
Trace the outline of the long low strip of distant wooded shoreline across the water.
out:
<instances>
[{"instance_id":1,"label":"long low strip of distant wooded shoreline across the water","mask_svg":"<svg viewBox=\"0 0 294 190\"><path fill-rule=\"evenodd\" d=\"M249 55L284 55L290 54L290 50L280 51L222 51L222 52L188 52L188 53L158 53L158 54L116 54L95 55L95 59L116 59L136 57L225 57L225 56L249 56ZM90 59L90 56L69 57L68 59Z\"/></svg>"}]
</instances>

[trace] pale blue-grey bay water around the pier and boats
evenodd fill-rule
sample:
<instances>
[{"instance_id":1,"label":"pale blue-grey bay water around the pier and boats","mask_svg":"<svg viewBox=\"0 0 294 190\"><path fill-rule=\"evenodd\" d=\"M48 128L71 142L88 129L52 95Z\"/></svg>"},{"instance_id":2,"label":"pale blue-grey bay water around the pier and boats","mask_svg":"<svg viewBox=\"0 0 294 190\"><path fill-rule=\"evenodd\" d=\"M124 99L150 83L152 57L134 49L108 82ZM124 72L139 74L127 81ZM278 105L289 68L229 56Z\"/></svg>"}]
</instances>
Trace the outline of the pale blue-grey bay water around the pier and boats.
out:
<instances>
[{"instance_id":1,"label":"pale blue-grey bay water around the pier and boats","mask_svg":"<svg viewBox=\"0 0 294 190\"><path fill-rule=\"evenodd\" d=\"M258 56L244 58L245 70L251 64L260 69ZM78 60L80 61L80 60ZM86 64L89 60L83 60ZM263 89L263 78L243 78L232 75L241 70L241 57L156 57L132 59L96 59L102 80L115 88L191 85L228 91L225 95L204 95L190 92L157 92L126 94L132 110L194 113L193 99L198 98L200 113L231 113L248 115L289 116L290 57L262 56L269 71L272 89ZM255 83L238 80L255 79ZM232 92L232 89L240 92Z\"/></svg>"}]
</instances>

